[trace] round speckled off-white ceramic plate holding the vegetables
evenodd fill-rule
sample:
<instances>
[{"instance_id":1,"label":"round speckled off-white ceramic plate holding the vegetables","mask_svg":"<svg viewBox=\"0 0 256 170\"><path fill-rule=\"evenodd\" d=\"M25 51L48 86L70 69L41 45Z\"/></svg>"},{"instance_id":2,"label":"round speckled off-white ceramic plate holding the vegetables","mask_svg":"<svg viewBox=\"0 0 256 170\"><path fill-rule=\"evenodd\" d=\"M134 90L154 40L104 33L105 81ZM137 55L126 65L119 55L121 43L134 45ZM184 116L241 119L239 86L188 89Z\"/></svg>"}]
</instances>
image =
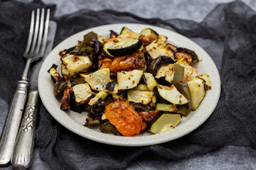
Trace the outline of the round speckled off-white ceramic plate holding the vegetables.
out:
<instances>
[{"instance_id":1,"label":"round speckled off-white ceramic plate holding the vegetables","mask_svg":"<svg viewBox=\"0 0 256 170\"><path fill-rule=\"evenodd\" d=\"M201 102L198 109L191 112L190 115L188 115L188 118L183 117L178 126L173 130L170 130L169 132L164 132L156 135L153 135L150 132L143 132L142 134L136 135L134 137L123 137L111 134L104 134L97 130L97 128L90 129L83 126L85 124L85 118L87 117L87 113L79 114L73 111L65 113L63 111L60 111L60 101L58 101L53 94L54 84L52 79L50 78L50 74L47 72L47 70L51 67L53 63L59 66L58 70L60 69L60 56L58 55L60 50L73 47L77 44L78 40L83 39L83 35L89 33L90 31L94 31L95 33L97 33L98 35L102 35L103 37L109 37L110 30L114 30L119 33L123 26L127 26L128 28L134 30L137 33L139 33L144 28L152 28L156 30L157 33L161 35L166 35L169 42L171 42L172 44L194 50L201 62L194 64L193 67L198 70L199 74L207 73L210 75L210 80L212 81L212 89L206 91L206 96ZM218 99L220 97L220 75L218 74L218 69L215 66L213 60L211 60L210 56L195 42L189 40L183 35L156 26L124 23L90 28L81 31L80 33L76 33L75 35L70 36L70 38L67 38L66 40L63 40L63 42L57 45L52 50L52 52L50 52L46 60L43 62L38 78L38 89L43 104L44 106L46 106L48 112L61 125L65 126L65 128L68 128L72 132L75 132L82 137L86 137L89 140L94 140L109 145L132 147L155 145L175 140L178 137L182 137L183 135L186 135L189 132L198 128L209 118L218 103Z\"/></svg>"}]
</instances>

